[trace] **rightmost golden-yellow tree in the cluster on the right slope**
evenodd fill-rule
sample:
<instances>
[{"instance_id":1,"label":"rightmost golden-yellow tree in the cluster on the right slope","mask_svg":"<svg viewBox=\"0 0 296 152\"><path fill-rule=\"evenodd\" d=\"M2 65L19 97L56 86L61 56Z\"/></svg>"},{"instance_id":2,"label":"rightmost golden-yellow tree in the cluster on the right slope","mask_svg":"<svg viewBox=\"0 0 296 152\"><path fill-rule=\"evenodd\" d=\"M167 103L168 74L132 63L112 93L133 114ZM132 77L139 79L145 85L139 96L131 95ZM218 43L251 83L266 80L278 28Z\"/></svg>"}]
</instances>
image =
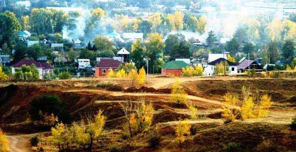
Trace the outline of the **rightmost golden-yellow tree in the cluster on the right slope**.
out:
<instances>
[{"instance_id":1,"label":"rightmost golden-yellow tree in the cluster on the right slope","mask_svg":"<svg viewBox=\"0 0 296 152\"><path fill-rule=\"evenodd\" d=\"M268 96L267 94L264 94L261 96L259 100L259 105L257 106L257 109L256 109L256 114L258 118L268 116L268 109L272 105L272 102L270 100L271 100L271 97Z\"/></svg>"}]
</instances>

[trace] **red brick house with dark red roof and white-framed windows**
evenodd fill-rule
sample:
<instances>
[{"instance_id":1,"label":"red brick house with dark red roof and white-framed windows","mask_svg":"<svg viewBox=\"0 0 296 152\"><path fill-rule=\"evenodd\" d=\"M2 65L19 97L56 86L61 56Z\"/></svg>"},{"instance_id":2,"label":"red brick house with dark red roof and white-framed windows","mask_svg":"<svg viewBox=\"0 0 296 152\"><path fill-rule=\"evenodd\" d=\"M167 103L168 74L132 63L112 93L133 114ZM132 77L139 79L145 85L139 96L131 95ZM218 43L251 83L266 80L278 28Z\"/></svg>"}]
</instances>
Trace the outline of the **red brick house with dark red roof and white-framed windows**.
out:
<instances>
[{"instance_id":1,"label":"red brick house with dark red roof and white-framed windows","mask_svg":"<svg viewBox=\"0 0 296 152\"><path fill-rule=\"evenodd\" d=\"M118 60L102 59L98 64L95 65L95 77L107 76L111 70L116 73L120 64L124 65L124 63Z\"/></svg>"}]
</instances>

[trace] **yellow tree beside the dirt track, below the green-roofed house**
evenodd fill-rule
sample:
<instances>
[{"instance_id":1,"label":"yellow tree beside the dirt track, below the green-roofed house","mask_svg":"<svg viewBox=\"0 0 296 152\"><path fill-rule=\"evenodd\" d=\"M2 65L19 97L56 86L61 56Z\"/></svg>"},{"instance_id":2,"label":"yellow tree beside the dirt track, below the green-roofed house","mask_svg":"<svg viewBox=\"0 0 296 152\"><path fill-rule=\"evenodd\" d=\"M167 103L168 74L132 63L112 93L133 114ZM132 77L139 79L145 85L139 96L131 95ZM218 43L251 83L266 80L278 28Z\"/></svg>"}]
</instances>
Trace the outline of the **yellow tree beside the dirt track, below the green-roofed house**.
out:
<instances>
[{"instance_id":1,"label":"yellow tree beside the dirt track, below the green-roofed house","mask_svg":"<svg viewBox=\"0 0 296 152\"><path fill-rule=\"evenodd\" d=\"M172 93L171 93L171 100L173 102L177 102L178 108L180 108L181 103L187 104L187 93L183 89L180 80L175 80L173 84Z\"/></svg>"}]
</instances>

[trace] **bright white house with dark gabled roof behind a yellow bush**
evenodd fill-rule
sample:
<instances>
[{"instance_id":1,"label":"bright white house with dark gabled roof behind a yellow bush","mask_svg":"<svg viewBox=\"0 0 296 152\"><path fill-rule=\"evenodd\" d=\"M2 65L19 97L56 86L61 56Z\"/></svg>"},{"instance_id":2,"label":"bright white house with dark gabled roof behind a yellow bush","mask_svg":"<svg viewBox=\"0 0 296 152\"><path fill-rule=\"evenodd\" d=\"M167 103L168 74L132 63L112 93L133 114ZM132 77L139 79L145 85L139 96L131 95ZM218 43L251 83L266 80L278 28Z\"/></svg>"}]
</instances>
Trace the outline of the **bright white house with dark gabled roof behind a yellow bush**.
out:
<instances>
[{"instance_id":1,"label":"bright white house with dark gabled roof behind a yellow bush","mask_svg":"<svg viewBox=\"0 0 296 152\"><path fill-rule=\"evenodd\" d=\"M214 74L214 69L217 63L221 63L222 61L227 61L229 65L228 73L229 74L237 74L237 65L231 61L228 61L224 58L219 58L215 61L211 61L205 65L204 74L206 76L212 76Z\"/></svg>"}]
</instances>

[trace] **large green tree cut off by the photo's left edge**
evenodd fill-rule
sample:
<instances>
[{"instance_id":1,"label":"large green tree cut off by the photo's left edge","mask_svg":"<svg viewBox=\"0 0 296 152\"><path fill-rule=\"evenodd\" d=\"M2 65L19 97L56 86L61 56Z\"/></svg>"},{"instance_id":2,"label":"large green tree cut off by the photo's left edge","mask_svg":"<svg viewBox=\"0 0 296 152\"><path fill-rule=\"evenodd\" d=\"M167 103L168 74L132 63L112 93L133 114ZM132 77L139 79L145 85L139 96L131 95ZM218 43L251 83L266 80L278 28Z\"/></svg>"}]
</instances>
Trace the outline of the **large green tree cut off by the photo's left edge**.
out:
<instances>
[{"instance_id":1,"label":"large green tree cut off by the photo's left edge","mask_svg":"<svg viewBox=\"0 0 296 152\"><path fill-rule=\"evenodd\" d=\"M14 13L10 11L0 13L0 46L6 43L11 47L11 38L21 30L21 28Z\"/></svg>"}]
</instances>

